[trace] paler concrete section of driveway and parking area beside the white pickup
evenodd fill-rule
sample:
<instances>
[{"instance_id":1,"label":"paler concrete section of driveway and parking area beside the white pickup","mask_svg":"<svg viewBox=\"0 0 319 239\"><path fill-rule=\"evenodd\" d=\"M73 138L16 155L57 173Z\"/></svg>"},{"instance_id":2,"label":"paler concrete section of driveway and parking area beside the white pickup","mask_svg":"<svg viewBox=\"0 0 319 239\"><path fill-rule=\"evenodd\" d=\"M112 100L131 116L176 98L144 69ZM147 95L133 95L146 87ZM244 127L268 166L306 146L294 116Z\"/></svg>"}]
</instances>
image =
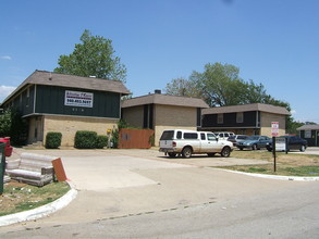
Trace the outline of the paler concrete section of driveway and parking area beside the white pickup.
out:
<instances>
[{"instance_id":1,"label":"paler concrete section of driveway and parking area beside the white pickup","mask_svg":"<svg viewBox=\"0 0 319 239\"><path fill-rule=\"evenodd\" d=\"M14 149L12 159L24 152ZM169 159L157 150L27 150L61 158L68 178L78 190L109 191L116 188L157 185L139 174L145 169L265 164L260 160L207 158ZM11 158L10 158L11 159ZM9 160L10 160L9 159Z\"/></svg>"}]
</instances>

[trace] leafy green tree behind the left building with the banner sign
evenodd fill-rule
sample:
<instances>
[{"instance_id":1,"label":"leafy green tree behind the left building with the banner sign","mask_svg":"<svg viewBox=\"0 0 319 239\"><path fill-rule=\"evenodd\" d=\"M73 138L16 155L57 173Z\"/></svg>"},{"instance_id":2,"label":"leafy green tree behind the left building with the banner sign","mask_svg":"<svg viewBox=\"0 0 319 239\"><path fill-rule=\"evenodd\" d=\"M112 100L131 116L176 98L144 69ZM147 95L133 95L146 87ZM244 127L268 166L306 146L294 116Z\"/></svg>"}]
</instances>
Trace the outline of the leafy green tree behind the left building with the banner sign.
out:
<instances>
[{"instance_id":1,"label":"leafy green tree behind the left building with the banner sign","mask_svg":"<svg viewBox=\"0 0 319 239\"><path fill-rule=\"evenodd\" d=\"M96 76L125 83L126 67L114 55L112 41L100 36L91 36L85 29L81 36L82 43L76 43L74 51L60 55L59 67L54 72L78 76Z\"/></svg>"}]
</instances>

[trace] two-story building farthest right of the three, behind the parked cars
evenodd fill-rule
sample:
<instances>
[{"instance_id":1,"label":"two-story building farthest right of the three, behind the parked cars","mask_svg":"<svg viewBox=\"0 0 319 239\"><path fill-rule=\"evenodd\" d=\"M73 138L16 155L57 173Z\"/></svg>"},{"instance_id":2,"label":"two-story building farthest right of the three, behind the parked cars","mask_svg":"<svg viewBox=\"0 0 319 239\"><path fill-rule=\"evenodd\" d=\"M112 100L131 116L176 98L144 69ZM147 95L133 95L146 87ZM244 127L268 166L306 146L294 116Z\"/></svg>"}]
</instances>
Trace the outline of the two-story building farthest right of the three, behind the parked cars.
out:
<instances>
[{"instance_id":1,"label":"two-story building farthest right of the three, behind the parked cars","mask_svg":"<svg viewBox=\"0 0 319 239\"><path fill-rule=\"evenodd\" d=\"M210 108L203 110L201 129L271 136L271 123L278 122L279 135L284 135L287 115L285 108L262 103Z\"/></svg>"}]
</instances>

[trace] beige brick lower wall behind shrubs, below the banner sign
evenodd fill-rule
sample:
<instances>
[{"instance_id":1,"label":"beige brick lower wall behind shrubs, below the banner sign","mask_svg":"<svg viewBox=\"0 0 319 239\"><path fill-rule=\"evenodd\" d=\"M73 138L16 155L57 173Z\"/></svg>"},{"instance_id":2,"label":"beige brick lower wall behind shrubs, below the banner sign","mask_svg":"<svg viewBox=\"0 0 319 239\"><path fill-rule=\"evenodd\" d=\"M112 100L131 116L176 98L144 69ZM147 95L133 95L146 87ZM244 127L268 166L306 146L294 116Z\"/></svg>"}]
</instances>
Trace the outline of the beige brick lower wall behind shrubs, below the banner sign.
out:
<instances>
[{"instance_id":1,"label":"beige brick lower wall behind shrubs, below the banner sign","mask_svg":"<svg viewBox=\"0 0 319 239\"><path fill-rule=\"evenodd\" d=\"M61 146L73 147L77 130L96 131L98 135L107 135L107 129L116 128L118 120L93 118L78 116L44 116L44 144L48 131L62 133Z\"/></svg>"}]
</instances>

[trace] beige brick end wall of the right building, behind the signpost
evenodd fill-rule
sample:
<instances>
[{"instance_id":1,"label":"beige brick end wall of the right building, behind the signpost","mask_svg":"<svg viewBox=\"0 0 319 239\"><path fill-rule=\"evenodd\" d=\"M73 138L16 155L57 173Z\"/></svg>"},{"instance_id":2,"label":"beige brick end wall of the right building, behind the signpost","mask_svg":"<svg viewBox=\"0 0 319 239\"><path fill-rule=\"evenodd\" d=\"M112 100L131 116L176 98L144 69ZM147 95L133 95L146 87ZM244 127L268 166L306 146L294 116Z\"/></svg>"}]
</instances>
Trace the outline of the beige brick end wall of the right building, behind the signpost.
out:
<instances>
[{"instance_id":1,"label":"beige brick end wall of the right building, behind the signpost","mask_svg":"<svg viewBox=\"0 0 319 239\"><path fill-rule=\"evenodd\" d=\"M260 115L260 135L271 137L271 122L279 122L279 135L285 135L285 116L266 112Z\"/></svg>"}]
</instances>

